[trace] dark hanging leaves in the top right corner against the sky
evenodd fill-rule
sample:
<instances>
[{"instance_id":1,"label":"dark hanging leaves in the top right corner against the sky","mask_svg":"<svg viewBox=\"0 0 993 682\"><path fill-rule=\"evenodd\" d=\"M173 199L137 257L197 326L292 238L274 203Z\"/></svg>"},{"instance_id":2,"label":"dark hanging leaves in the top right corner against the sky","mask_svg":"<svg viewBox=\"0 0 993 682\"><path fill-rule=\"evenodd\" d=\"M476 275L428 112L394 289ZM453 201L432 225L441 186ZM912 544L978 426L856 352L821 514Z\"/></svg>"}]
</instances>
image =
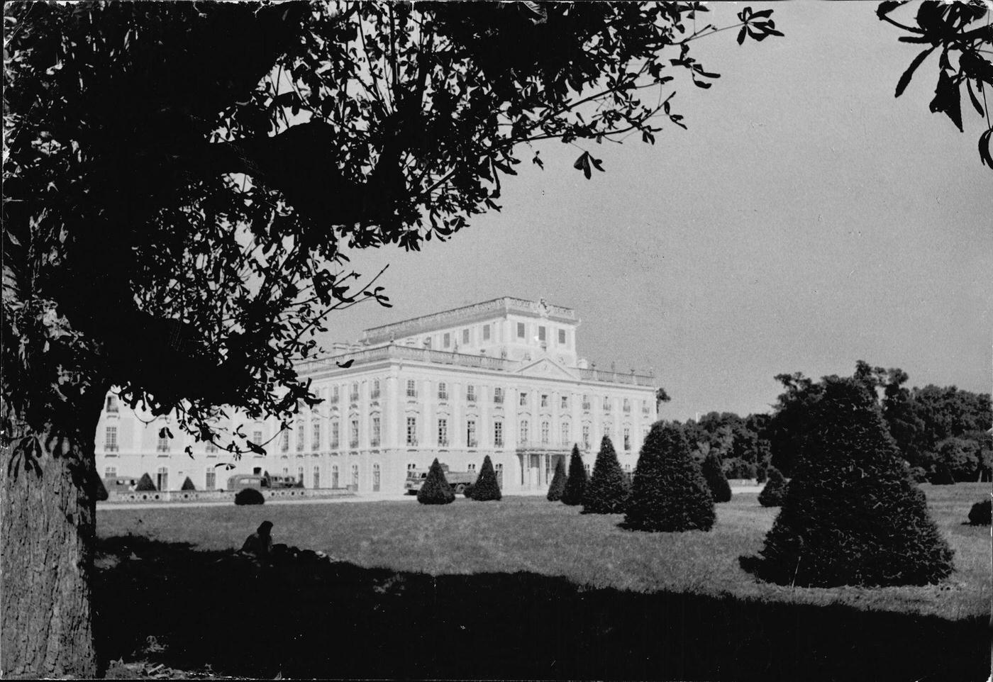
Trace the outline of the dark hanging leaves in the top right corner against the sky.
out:
<instances>
[{"instance_id":1,"label":"dark hanging leaves in the top right corner against the sky","mask_svg":"<svg viewBox=\"0 0 993 682\"><path fill-rule=\"evenodd\" d=\"M979 136L979 159L983 165L993 170L993 153L990 151L993 123L990 122L990 103L985 92L985 88L993 86L993 62L987 57L993 48L993 33L989 29L989 3L983 0L948 3L926 0L912 5L917 8L916 15L908 15L908 19L912 21L901 23L890 15L904 4L906 3L882 2L876 10L880 19L910 34L901 36L901 42L916 43L923 48L900 76L896 96L904 93L917 68L931 53L936 53L937 87L934 89L934 98L930 101L930 110L945 114L962 132L961 99L964 84L972 108L980 118L984 118L986 125L986 130Z\"/></svg>"}]
</instances>

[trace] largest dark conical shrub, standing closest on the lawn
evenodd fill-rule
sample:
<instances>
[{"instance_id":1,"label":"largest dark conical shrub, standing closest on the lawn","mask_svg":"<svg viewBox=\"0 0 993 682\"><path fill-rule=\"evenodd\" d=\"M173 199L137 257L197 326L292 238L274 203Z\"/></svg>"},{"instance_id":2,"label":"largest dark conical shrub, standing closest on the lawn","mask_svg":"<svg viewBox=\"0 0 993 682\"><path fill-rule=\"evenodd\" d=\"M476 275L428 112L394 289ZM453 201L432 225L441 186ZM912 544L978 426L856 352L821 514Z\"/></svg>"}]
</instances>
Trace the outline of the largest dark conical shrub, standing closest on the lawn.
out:
<instances>
[{"instance_id":1,"label":"largest dark conical shrub, standing closest on the lawn","mask_svg":"<svg viewBox=\"0 0 993 682\"><path fill-rule=\"evenodd\" d=\"M742 566L780 585L924 585L952 571L952 552L927 512L866 387L825 379L810 438L761 557Z\"/></svg>"}]
</instances>

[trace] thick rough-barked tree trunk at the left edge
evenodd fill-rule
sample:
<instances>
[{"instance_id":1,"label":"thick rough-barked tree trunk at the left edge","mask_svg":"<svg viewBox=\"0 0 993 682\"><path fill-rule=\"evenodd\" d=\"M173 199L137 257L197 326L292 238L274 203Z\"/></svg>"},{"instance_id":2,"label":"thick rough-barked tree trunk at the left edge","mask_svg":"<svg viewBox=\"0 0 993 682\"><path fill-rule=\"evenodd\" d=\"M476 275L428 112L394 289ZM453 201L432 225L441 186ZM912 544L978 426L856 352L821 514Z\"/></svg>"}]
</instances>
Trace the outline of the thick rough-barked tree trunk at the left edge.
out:
<instances>
[{"instance_id":1,"label":"thick rough-barked tree trunk at the left edge","mask_svg":"<svg viewBox=\"0 0 993 682\"><path fill-rule=\"evenodd\" d=\"M14 427L0 466L0 677L96 675L90 573L96 529L93 439L103 392L59 424ZM93 395L95 394L95 395ZM19 448L25 437L34 443ZM30 441L29 441L30 442Z\"/></svg>"}]
</instances>

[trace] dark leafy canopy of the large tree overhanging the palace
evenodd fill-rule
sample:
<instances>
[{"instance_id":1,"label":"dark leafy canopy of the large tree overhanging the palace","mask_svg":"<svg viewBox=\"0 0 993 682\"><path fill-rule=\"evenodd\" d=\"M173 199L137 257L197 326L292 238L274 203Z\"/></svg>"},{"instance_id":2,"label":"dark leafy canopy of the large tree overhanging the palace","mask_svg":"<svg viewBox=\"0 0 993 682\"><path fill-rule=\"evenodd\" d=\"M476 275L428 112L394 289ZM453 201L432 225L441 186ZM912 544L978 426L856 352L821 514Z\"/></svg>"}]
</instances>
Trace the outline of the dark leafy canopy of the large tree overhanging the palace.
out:
<instances>
[{"instance_id":1,"label":"dark leafy canopy of the large tree overhanging the palace","mask_svg":"<svg viewBox=\"0 0 993 682\"><path fill-rule=\"evenodd\" d=\"M677 75L719 75L697 3L5 8L3 395L35 427L108 385L198 439L218 405L285 426L327 315L388 305L347 249L448 238L527 145L652 143Z\"/></svg>"}]
</instances>

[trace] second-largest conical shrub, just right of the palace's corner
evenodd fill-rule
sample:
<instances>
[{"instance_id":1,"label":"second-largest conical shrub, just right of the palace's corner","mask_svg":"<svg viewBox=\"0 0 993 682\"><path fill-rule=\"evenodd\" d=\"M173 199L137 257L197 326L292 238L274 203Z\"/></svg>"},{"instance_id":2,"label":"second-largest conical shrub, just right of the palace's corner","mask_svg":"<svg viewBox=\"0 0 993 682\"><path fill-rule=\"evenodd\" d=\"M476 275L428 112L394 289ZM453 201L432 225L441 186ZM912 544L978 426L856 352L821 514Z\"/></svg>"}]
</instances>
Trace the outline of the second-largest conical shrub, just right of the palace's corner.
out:
<instances>
[{"instance_id":1,"label":"second-largest conical shrub, just right of the palace's corner","mask_svg":"<svg viewBox=\"0 0 993 682\"><path fill-rule=\"evenodd\" d=\"M641 446L623 526L654 532L710 530L715 519L714 498L683 430L655 423Z\"/></svg>"}]
</instances>

